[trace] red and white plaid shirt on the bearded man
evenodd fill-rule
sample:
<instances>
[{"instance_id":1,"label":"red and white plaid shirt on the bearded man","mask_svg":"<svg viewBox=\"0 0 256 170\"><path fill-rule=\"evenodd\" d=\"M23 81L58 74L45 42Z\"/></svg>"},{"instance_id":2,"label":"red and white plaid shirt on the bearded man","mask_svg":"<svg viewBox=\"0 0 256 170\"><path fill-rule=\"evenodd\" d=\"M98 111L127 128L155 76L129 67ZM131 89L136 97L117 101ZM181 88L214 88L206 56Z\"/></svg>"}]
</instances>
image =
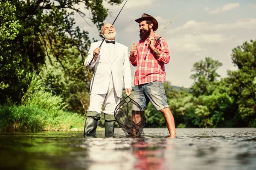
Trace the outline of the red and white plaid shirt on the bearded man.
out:
<instances>
[{"instance_id":1,"label":"red and white plaid shirt on the bearded man","mask_svg":"<svg viewBox=\"0 0 256 170\"><path fill-rule=\"evenodd\" d=\"M155 36L156 33L151 37ZM134 76L134 85L141 85L153 81L161 81L164 83L166 80L164 64L167 64L170 60L169 49L163 37L159 35L156 37L160 37L160 40L155 44L156 48L160 51L160 57L158 59L154 51L151 50L148 39L138 42L137 51L134 52L134 62L131 62L131 56L129 57L131 64L137 66Z\"/></svg>"}]
</instances>

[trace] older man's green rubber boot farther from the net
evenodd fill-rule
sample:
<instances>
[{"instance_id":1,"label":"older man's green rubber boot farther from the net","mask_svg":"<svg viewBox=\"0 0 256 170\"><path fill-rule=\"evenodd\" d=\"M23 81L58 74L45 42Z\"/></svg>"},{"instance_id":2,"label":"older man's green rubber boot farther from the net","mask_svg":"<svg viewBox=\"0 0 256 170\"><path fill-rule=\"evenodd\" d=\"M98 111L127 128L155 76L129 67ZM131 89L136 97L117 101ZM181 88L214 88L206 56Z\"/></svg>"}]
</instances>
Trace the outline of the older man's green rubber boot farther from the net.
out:
<instances>
[{"instance_id":1,"label":"older man's green rubber boot farther from the net","mask_svg":"<svg viewBox=\"0 0 256 170\"><path fill-rule=\"evenodd\" d=\"M84 124L84 136L95 136L100 114L96 111L87 112Z\"/></svg>"}]
</instances>

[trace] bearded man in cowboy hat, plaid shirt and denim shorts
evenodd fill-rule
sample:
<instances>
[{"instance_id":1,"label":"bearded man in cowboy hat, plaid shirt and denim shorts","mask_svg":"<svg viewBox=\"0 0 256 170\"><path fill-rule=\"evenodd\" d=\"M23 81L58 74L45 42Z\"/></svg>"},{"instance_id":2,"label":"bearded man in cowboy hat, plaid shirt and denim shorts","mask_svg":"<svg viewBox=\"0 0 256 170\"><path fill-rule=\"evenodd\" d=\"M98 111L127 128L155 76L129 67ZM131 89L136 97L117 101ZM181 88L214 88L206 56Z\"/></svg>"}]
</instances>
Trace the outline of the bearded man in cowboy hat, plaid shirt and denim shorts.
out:
<instances>
[{"instance_id":1,"label":"bearded man in cowboy hat, plaid shirt and denim shorts","mask_svg":"<svg viewBox=\"0 0 256 170\"><path fill-rule=\"evenodd\" d=\"M167 103L164 82L166 72L164 65L170 60L166 40L154 31L158 28L157 20L149 14L135 20L139 23L140 41L131 46L129 60L137 66L134 76L133 99L144 110L148 102L160 111L165 119L170 137L175 136L175 121ZM140 119L139 109L133 105L134 119Z\"/></svg>"}]
</instances>

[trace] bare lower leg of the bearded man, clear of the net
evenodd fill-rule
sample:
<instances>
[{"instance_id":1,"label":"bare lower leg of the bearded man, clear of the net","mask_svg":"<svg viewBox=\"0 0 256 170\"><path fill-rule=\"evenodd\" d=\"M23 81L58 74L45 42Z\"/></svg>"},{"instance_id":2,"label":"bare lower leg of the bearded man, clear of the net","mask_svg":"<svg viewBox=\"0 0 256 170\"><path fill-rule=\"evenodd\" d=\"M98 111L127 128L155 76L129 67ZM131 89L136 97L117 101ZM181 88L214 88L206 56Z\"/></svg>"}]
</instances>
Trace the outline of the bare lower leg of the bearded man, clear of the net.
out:
<instances>
[{"instance_id":1,"label":"bare lower leg of the bearded man, clear of the net","mask_svg":"<svg viewBox=\"0 0 256 170\"><path fill-rule=\"evenodd\" d=\"M166 126L169 130L170 136L175 136L175 122L174 122L174 118L172 115L172 112L170 111L169 108L164 108L162 110L160 110L160 112L162 112L163 117L166 121Z\"/></svg>"}]
</instances>

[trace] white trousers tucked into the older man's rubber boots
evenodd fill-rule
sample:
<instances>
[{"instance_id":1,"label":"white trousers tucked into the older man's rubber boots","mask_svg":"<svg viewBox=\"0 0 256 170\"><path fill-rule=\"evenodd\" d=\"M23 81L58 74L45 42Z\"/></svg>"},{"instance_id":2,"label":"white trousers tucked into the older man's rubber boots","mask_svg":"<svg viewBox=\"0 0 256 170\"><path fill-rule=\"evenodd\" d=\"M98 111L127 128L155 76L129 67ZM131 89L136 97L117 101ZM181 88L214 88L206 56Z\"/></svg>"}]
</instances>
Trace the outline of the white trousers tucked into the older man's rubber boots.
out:
<instances>
[{"instance_id":1,"label":"white trousers tucked into the older man's rubber boots","mask_svg":"<svg viewBox=\"0 0 256 170\"><path fill-rule=\"evenodd\" d=\"M121 98L117 97L115 93L111 76L107 94L90 94L90 106L87 112L96 111L99 114L102 113L102 104L104 103L104 113L114 114L115 108L120 100Z\"/></svg>"}]
</instances>

